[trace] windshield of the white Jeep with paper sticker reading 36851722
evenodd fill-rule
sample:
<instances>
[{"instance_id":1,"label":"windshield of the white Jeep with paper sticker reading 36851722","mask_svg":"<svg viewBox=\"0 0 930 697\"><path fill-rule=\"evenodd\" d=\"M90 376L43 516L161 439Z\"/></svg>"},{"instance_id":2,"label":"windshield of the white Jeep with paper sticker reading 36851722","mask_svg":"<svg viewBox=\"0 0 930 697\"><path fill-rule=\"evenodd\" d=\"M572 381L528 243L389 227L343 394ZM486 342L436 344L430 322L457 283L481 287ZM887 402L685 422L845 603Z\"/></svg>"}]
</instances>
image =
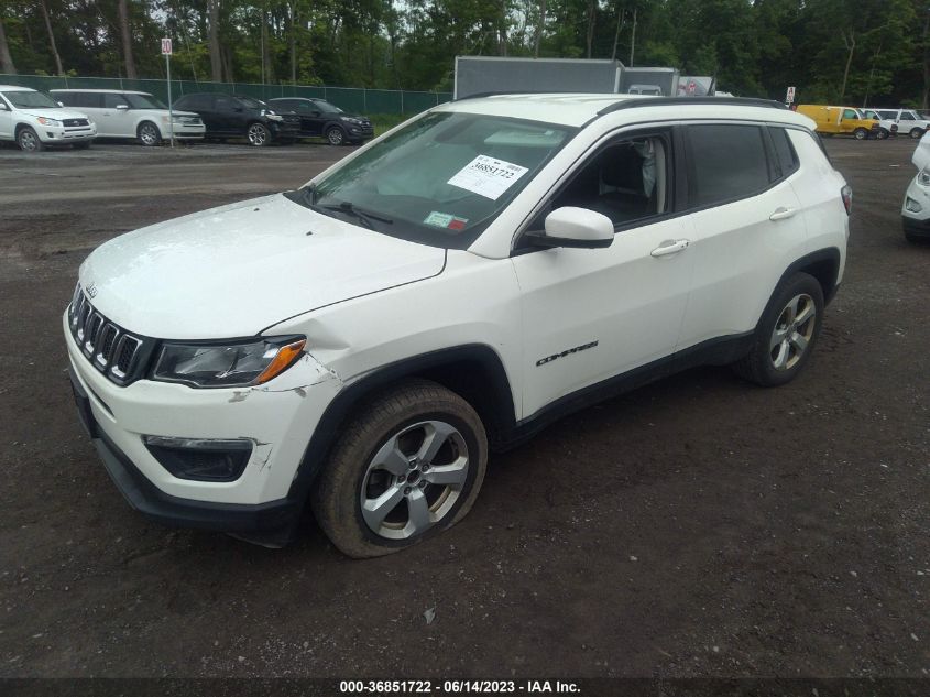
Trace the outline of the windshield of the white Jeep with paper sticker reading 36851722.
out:
<instances>
[{"instance_id":1,"label":"windshield of the white Jeep with paper sticker reading 36851722","mask_svg":"<svg viewBox=\"0 0 930 697\"><path fill-rule=\"evenodd\" d=\"M292 199L380 232L464 249L575 129L472 113L429 113Z\"/></svg>"}]
</instances>

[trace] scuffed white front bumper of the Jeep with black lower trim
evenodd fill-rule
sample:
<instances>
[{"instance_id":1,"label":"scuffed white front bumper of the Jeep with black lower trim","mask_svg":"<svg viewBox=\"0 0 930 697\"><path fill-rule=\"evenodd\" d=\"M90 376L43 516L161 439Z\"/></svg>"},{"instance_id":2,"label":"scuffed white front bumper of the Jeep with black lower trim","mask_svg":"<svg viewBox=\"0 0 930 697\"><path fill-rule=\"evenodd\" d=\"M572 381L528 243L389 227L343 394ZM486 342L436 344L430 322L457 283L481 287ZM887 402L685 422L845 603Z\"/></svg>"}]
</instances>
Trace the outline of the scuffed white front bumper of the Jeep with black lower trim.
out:
<instances>
[{"instance_id":1,"label":"scuffed white front bumper of the Jeep with black lower trim","mask_svg":"<svg viewBox=\"0 0 930 697\"><path fill-rule=\"evenodd\" d=\"M119 386L85 358L68 330L70 377L83 421L110 476L133 508L163 523L227 532L277 527L303 505L292 487L339 378L306 353L255 388L198 390L139 380ZM233 481L172 475L145 446L146 436L250 439Z\"/></svg>"}]
</instances>

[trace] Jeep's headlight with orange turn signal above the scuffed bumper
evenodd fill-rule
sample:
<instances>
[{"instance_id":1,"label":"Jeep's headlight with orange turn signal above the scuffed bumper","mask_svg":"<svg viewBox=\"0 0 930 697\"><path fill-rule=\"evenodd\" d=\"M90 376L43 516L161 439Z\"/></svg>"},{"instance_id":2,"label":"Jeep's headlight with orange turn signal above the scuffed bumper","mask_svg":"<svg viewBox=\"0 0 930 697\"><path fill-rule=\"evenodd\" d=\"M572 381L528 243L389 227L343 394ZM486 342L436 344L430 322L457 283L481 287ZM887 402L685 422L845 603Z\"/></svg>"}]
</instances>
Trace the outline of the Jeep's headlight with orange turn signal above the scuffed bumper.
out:
<instances>
[{"instance_id":1,"label":"Jeep's headlight with orange turn signal above the scuffed bumper","mask_svg":"<svg viewBox=\"0 0 930 697\"><path fill-rule=\"evenodd\" d=\"M197 388L262 384L291 368L306 342L292 336L249 344L164 344L152 378Z\"/></svg>"}]
</instances>

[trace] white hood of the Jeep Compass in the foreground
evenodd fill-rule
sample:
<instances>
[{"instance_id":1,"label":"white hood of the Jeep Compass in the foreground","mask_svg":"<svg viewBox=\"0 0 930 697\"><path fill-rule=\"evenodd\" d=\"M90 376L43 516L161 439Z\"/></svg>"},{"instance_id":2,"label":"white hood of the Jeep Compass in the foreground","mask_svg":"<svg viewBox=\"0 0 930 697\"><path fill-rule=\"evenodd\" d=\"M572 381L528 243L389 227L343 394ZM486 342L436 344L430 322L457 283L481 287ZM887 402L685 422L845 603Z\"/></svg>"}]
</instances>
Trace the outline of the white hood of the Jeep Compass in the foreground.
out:
<instances>
[{"instance_id":1,"label":"white hood of the Jeep Compass in the foreground","mask_svg":"<svg viewBox=\"0 0 930 697\"><path fill-rule=\"evenodd\" d=\"M112 239L81 264L80 283L100 313L130 331L217 339L253 336L325 305L428 279L445 261L442 249L275 194Z\"/></svg>"}]
</instances>

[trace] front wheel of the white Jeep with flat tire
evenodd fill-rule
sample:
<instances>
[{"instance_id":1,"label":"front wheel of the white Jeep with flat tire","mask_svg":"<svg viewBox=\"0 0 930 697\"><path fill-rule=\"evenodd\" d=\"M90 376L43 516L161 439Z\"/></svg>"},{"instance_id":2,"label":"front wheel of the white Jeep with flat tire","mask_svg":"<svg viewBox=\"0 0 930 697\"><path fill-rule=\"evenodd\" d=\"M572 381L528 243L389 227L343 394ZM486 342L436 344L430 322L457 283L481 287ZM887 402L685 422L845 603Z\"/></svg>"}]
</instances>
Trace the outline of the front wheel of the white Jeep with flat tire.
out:
<instances>
[{"instance_id":1,"label":"front wheel of the white Jeep with flat tire","mask_svg":"<svg viewBox=\"0 0 930 697\"><path fill-rule=\"evenodd\" d=\"M464 518L486 468L488 437L471 405L435 382L412 380L369 402L342 429L311 508L343 554L382 556Z\"/></svg>"}]
</instances>

